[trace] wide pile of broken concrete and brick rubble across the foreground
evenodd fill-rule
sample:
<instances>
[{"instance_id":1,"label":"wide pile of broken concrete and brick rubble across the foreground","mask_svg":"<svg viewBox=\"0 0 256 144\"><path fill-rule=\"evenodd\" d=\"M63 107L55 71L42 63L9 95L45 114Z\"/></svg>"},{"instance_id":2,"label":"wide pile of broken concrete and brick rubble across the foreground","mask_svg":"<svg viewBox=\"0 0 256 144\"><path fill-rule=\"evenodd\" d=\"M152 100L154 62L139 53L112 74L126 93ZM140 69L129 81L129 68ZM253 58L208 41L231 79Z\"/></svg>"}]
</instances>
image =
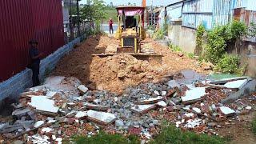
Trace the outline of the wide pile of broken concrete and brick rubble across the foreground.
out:
<instances>
[{"instance_id":1,"label":"wide pile of broken concrete and brick rubble across the foreground","mask_svg":"<svg viewBox=\"0 0 256 144\"><path fill-rule=\"evenodd\" d=\"M182 70L118 95L89 90L76 78L47 78L44 85L20 94L15 121L0 123L0 133L33 143L62 143L74 134L90 137L99 130L149 140L166 120L182 130L218 135L218 129L253 110L255 83L247 77L209 80Z\"/></svg>"}]
</instances>

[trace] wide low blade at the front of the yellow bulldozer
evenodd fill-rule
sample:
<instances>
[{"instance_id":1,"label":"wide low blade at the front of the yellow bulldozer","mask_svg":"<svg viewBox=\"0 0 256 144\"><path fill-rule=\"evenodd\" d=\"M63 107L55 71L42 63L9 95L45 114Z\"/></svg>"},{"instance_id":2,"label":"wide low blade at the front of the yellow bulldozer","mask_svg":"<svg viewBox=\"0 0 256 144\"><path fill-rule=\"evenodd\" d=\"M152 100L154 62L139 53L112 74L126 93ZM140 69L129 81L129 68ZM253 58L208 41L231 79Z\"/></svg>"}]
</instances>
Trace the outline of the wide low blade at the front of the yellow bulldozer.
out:
<instances>
[{"instance_id":1,"label":"wide low blade at the front of the yellow bulldozer","mask_svg":"<svg viewBox=\"0 0 256 144\"><path fill-rule=\"evenodd\" d=\"M122 54L122 53L121 53ZM162 54L145 54L145 53L124 53L124 54L130 54L134 58L137 58L138 60L142 61L148 61L148 62L156 62L158 64L162 64ZM105 58L109 56L114 56L117 54L93 54L92 56L98 56L100 58Z\"/></svg>"}]
</instances>

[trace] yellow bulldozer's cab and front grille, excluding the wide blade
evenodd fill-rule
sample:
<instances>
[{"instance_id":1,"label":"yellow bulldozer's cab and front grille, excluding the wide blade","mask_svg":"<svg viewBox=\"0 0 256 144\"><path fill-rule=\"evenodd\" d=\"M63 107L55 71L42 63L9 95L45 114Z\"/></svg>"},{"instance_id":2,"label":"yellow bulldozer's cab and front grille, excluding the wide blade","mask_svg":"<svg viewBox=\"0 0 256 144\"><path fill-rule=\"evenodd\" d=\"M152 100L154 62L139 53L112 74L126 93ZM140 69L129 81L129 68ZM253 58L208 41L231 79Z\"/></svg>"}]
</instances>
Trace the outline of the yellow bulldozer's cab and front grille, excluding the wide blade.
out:
<instances>
[{"instance_id":1,"label":"yellow bulldozer's cab and front grille, excluding the wide blade","mask_svg":"<svg viewBox=\"0 0 256 144\"><path fill-rule=\"evenodd\" d=\"M118 30L115 37L120 40L118 53L139 53L141 42L146 38L144 10L142 6L119 6Z\"/></svg>"}]
</instances>

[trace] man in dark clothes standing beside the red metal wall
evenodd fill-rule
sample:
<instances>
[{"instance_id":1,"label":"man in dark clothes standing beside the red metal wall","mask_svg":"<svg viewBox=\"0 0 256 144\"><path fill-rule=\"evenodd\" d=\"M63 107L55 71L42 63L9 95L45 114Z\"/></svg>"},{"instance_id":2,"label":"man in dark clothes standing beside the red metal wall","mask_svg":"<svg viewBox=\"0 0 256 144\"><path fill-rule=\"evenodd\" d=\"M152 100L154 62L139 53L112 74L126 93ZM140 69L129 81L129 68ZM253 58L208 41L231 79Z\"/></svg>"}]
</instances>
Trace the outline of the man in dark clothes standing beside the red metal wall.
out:
<instances>
[{"instance_id":1,"label":"man in dark clothes standing beside the red metal wall","mask_svg":"<svg viewBox=\"0 0 256 144\"><path fill-rule=\"evenodd\" d=\"M33 86L39 86L39 69L40 69L40 58L42 53L39 54L38 41L31 40L30 42L30 68L33 71L32 80Z\"/></svg>"}]
</instances>

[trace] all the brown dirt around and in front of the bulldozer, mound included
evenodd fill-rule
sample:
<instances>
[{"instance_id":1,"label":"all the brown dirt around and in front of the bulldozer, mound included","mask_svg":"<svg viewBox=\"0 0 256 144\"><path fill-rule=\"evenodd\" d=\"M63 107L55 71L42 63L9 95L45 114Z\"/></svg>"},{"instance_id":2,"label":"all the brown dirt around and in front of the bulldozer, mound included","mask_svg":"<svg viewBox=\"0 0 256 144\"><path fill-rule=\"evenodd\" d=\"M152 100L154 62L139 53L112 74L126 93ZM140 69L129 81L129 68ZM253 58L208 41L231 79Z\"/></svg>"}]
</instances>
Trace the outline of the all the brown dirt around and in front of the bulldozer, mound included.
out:
<instances>
[{"instance_id":1,"label":"all the brown dirt around and in front of the bulldozer, mound included","mask_svg":"<svg viewBox=\"0 0 256 144\"><path fill-rule=\"evenodd\" d=\"M152 46L154 52L162 54L162 64L138 60L128 54L112 57L92 57L102 54L107 46L118 46L118 40L106 35L87 38L80 46L67 54L58 63L52 75L74 76L90 89L110 90L118 94L127 86L135 86L141 82L157 82L165 75L174 74L179 70L191 69L199 73L209 73L198 65L196 60L172 52L147 38L144 43Z\"/></svg>"}]
</instances>

